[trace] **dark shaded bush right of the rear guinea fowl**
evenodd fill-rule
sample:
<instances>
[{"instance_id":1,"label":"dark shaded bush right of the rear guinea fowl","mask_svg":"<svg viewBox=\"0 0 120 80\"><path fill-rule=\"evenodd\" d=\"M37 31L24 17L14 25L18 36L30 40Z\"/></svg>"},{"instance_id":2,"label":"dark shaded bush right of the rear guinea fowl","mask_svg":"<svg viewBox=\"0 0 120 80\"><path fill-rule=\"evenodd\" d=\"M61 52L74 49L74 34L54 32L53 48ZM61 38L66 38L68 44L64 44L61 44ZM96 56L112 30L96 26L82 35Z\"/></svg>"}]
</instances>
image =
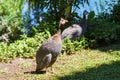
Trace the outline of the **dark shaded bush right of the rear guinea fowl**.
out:
<instances>
[{"instance_id":1,"label":"dark shaded bush right of the rear guinea fowl","mask_svg":"<svg viewBox=\"0 0 120 80\"><path fill-rule=\"evenodd\" d=\"M114 22L108 22L107 18L101 16L99 15L99 17L88 22L86 37L90 41L94 40L96 45L110 44L119 40L120 25Z\"/></svg>"}]
</instances>

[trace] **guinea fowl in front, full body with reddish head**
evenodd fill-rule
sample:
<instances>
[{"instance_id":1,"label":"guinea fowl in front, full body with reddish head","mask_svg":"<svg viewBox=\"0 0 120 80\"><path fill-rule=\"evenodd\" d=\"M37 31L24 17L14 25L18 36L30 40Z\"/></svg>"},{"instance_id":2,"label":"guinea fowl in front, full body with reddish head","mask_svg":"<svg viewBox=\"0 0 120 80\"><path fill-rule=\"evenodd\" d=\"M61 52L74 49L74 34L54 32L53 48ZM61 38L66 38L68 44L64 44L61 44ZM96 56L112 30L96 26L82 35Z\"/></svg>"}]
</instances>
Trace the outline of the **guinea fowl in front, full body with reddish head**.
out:
<instances>
[{"instance_id":1,"label":"guinea fowl in front, full body with reddish head","mask_svg":"<svg viewBox=\"0 0 120 80\"><path fill-rule=\"evenodd\" d=\"M40 72L44 68L46 68L47 71L48 67L51 67L52 69L52 65L55 63L62 50L61 26L67 22L67 20L61 18L57 33L43 42L38 49L36 53L36 72Z\"/></svg>"}]
</instances>

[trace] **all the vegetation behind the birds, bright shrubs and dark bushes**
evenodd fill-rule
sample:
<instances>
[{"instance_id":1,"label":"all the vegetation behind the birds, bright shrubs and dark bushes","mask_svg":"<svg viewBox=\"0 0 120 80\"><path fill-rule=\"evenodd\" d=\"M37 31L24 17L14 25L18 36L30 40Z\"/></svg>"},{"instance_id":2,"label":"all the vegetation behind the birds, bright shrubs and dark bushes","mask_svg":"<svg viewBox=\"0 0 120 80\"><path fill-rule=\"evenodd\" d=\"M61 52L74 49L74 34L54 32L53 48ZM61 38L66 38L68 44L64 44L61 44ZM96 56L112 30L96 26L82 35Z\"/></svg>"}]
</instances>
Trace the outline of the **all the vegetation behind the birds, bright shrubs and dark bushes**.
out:
<instances>
[{"instance_id":1,"label":"all the vegetation behind the birds, bright shrubs and dark bushes","mask_svg":"<svg viewBox=\"0 0 120 80\"><path fill-rule=\"evenodd\" d=\"M28 7L23 14L25 3ZM1 0L0 61L15 57L33 58L39 45L57 31L61 17L69 20L66 27L81 20L82 17L72 11L72 7L79 9L78 5L85 3L89 5L88 0ZM85 35L75 42L66 39L62 53L73 54L82 48L96 48L119 41L120 0L108 6L110 12L104 11L98 15L94 11L89 13ZM44 12L45 9L47 12ZM34 18L31 18L31 12Z\"/></svg>"}]
</instances>

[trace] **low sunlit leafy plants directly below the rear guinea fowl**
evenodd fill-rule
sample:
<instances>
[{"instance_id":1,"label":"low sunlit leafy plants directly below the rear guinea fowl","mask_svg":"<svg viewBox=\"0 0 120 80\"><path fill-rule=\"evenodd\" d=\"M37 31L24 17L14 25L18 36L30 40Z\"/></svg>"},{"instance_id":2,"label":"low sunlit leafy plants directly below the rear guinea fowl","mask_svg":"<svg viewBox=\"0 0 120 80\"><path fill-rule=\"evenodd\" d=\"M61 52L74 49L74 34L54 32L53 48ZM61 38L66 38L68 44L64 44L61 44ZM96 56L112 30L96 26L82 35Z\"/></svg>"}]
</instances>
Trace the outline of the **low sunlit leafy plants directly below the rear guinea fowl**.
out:
<instances>
[{"instance_id":1,"label":"low sunlit leafy plants directly below the rear guinea fowl","mask_svg":"<svg viewBox=\"0 0 120 80\"><path fill-rule=\"evenodd\" d=\"M81 49L85 49L89 47L89 43L87 38L84 36L81 37L80 41L72 42L69 38L66 38L63 41L63 50L62 53L65 54L74 54L76 51L80 51Z\"/></svg>"}]
</instances>

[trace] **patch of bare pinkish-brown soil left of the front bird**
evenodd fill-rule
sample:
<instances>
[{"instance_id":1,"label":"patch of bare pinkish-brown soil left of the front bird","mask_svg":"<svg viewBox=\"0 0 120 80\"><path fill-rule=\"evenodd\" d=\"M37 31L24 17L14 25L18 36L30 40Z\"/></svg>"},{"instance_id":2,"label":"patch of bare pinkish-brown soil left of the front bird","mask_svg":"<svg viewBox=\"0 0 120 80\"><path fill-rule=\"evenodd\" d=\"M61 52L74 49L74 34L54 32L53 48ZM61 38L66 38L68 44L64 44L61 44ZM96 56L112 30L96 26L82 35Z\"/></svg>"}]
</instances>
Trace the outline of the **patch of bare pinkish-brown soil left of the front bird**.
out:
<instances>
[{"instance_id":1,"label":"patch of bare pinkish-brown soil left of the front bird","mask_svg":"<svg viewBox=\"0 0 120 80\"><path fill-rule=\"evenodd\" d=\"M0 80L19 80L27 72L35 71L35 59L16 58L10 63L0 63ZM24 79L23 79L24 80Z\"/></svg>"}]
</instances>

